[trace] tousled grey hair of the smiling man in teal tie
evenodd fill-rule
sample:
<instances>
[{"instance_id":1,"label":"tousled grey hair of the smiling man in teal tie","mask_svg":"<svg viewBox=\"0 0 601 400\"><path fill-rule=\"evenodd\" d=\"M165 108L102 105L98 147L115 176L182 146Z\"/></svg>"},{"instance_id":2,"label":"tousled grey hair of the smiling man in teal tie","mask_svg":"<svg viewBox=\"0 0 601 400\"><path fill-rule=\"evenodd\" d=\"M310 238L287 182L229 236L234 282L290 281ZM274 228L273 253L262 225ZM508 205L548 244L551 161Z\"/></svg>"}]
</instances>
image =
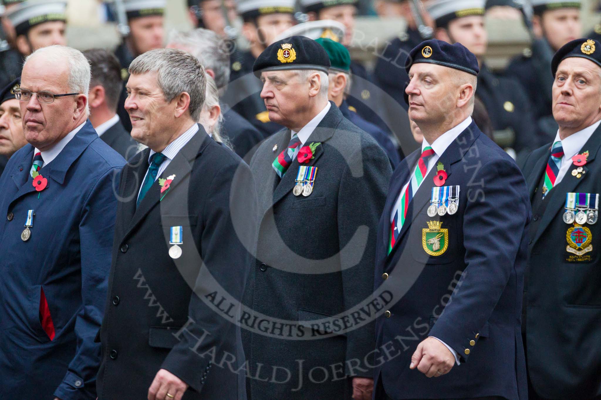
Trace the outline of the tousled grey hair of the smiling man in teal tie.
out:
<instances>
[{"instance_id":1,"label":"tousled grey hair of the smiling man in teal tie","mask_svg":"<svg viewBox=\"0 0 601 400\"><path fill-rule=\"evenodd\" d=\"M154 49L138 56L129 65L133 75L157 73L157 83L165 101L186 92L190 95L188 111L194 121L200 118L203 109L206 79L204 67L188 52L178 49Z\"/></svg>"}]
</instances>

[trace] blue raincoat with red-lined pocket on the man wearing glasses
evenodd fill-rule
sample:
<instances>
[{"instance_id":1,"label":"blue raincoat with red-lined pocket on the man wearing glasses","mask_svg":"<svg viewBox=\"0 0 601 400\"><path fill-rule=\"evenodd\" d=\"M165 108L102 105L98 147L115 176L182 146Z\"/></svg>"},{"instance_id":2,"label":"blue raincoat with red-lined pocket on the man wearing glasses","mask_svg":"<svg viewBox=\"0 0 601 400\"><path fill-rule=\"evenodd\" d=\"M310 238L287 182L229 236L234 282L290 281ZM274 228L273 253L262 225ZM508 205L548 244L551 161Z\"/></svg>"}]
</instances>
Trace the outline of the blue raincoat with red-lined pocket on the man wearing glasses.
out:
<instances>
[{"instance_id":1,"label":"blue raincoat with red-lined pocket on the man wearing glasses","mask_svg":"<svg viewBox=\"0 0 601 400\"><path fill-rule=\"evenodd\" d=\"M0 398L95 399L113 184L125 161L88 121L40 170L48 183L38 198L29 175L33 153L31 145L19 149L0 178Z\"/></svg>"}]
</instances>

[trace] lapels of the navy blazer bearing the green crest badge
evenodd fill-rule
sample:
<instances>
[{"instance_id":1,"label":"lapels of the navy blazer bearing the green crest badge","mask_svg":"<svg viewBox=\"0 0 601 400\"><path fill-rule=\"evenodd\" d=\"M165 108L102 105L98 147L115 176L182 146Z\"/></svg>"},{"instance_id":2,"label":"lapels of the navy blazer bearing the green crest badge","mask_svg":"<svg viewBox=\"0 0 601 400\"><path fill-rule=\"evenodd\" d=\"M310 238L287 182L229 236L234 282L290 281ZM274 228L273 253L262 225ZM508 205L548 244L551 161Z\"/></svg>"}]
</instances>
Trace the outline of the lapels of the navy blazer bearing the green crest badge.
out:
<instances>
[{"instance_id":1,"label":"lapels of the navy blazer bearing the green crest badge","mask_svg":"<svg viewBox=\"0 0 601 400\"><path fill-rule=\"evenodd\" d=\"M455 139L445 152L441 155L441 157L436 161L436 164L442 163L445 167L445 171L447 172L447 182L450 180L453 171L457 169L460 171L461 166L454 166L457 161L460 161L463 158L463 155L469 151L469 148L474 144L474 141L478 136L480 136L480 129L476 126L475 122L469 125L469 127L465 128L465 130ZM421 155L421 149L418 150L418 155ZM413 164L412 169L410 169L410 173L413 173L415 169L415 165L417 164L417 159ZM409 230L410 225L415 219L415 216L418 215L421 210L426 207L427 204L430 204L430 196L432 195L432 188L434 185L434 177L438 173L436 169L436 165L430 170L424 181L419 185L419 189L417 193L413 195L413 199L409 203L409 208L407 209L407 218L401 228L400 233L398 234L397 241L394 243L394 248L389 255L392 255L394 249L398 247L399 243L403 239L404 234ZM409 176L407 176L409 179ZM406 181L403 182L403 185L406 184ZM449 184L445 183L445 186Z\"/></svg>"}]
</instances>

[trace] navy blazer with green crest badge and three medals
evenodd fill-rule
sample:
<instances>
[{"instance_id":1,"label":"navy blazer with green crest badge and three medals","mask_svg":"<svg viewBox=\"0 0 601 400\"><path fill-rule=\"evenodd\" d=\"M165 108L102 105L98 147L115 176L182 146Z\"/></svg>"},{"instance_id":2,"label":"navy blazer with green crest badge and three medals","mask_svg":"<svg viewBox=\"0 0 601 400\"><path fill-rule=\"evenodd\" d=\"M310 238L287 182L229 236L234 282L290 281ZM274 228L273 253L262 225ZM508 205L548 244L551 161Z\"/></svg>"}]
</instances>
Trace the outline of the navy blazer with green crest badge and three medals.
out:
<instances>
[{"instance_id":1,"label":"navy blazer with green crest badge and three medals","mask_svg":"<svg viewBox=\"0 0 601 400\"><path fill-rule=\"evenodd\" d=\"M384 307L376 320L376 384L381 379L393 399L525 399L520 310L530 203L523 176L472 122L439 158L448 175L444 185L460 186L459 210L427 215L433 169L388 254L392 207L420 153L401 161L392 175L379 224L374 287ZM439 255L424 250L427 222L448 230L447 250ZM435 379L409 369L428 336L447 343L462 364Z\"/></svg>"}]
</instances>

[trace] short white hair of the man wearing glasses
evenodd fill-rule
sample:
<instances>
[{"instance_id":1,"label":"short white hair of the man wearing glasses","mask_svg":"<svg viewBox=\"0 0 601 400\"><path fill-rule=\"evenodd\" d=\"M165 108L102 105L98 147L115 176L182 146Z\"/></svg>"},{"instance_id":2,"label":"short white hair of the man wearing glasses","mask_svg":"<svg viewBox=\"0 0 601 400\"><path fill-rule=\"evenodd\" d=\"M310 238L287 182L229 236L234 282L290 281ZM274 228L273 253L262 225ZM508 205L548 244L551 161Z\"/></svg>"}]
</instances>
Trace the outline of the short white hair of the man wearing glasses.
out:
<instances>
[{"instance_id":1,"label":"short white hair of the man wearing glasses","mask_svg":"<svg viewBox=\"0 0 601 400\"><path fill-rule=\"evenodd\" d=\"M54 44L53 46L42 47L41 49L35 50L35 52L27 56L25 64L27 64L31 58L38 56L43 57L49 65L64 64L66 61L67 68L69 68L69 78L67 79L69 91L83 94L86 98L88 97L91 79L90 64L82 52L73 49L73 47ZM86 115L90 115L89 104L86 104Z\"/></svg>"}]
</instances>

